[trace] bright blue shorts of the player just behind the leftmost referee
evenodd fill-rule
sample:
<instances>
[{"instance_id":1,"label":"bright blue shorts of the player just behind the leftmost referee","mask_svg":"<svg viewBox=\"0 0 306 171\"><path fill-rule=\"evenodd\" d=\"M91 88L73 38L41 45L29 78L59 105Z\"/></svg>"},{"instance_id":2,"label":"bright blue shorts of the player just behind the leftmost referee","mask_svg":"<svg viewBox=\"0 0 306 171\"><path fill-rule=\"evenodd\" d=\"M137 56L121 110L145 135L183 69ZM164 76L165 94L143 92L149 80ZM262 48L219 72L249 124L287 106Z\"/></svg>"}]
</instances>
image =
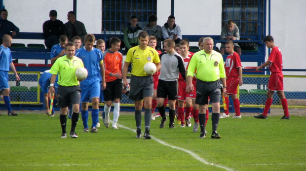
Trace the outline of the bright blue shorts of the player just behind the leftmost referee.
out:
<instances>
[{"instance_id":1,"label":"bright blue shorts of the player just behind the leftmost referee","mask_svg":"<svg viewBox=\"0 0 306 171\"><path fill-rule=\"evenodd\" d=\"M100 80L99 78L84 79L80 81L81 103L89 102L92 98L100 97Z\"/></svg>"}]
</instances>

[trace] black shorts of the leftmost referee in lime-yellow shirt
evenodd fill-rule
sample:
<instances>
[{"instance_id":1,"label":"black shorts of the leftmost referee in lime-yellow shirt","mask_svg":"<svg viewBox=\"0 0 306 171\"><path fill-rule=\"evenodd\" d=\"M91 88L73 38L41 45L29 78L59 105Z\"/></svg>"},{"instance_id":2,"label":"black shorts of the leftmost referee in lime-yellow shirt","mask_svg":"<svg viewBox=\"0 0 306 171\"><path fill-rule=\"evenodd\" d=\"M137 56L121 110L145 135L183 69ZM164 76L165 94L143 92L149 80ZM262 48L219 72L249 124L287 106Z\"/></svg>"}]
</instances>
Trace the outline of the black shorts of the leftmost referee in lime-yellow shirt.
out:
<instances>
[{"instance_id":1,"label":"black shorts of the leftmost referee in lime-yellow shirt","mask_svg":"<svg viewBox=\"0 0 306 171\"><path fill-rule=\"evenodd\" d=\"M81 100L81 89L79 86L58 86L58 105L60 107L67 107L71 104L79 104Z\"/></svg>"}]
</instances>

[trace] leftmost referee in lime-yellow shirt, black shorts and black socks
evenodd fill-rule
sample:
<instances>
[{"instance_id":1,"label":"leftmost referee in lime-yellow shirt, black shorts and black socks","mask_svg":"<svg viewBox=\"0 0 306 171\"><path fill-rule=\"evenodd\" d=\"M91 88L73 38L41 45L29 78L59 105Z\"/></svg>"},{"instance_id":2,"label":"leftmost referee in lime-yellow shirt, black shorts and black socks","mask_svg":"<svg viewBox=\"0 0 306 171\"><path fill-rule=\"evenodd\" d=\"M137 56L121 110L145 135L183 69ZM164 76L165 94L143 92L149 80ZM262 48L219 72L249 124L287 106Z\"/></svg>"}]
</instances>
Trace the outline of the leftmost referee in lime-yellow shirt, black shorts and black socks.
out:
<instances>
[{"instance_id":1,"label":"leftmost referee in lime-yellow shirt, black shorts and black socks","mask_svg":"<svg viewBox=\"0 0 306 171\"><path fill-rule=\"evenodd\" d=\"M76 79L76 68L84 67L81 59L75 57L76 47L74 43L69 42L65 46L66 55L56 60L50 69L51 84L49 91L54 93L54 82L58 74L58 104L61 108L60 122L62 127L61 138L66 138L66 122L68 106L72 105L71 131L70 137L77 138L75 128L79 116L79 103L81 98L81 90L79 88L78 80ZM81 80L80 80L81 81Z\"/></svg>"}]
</instances>

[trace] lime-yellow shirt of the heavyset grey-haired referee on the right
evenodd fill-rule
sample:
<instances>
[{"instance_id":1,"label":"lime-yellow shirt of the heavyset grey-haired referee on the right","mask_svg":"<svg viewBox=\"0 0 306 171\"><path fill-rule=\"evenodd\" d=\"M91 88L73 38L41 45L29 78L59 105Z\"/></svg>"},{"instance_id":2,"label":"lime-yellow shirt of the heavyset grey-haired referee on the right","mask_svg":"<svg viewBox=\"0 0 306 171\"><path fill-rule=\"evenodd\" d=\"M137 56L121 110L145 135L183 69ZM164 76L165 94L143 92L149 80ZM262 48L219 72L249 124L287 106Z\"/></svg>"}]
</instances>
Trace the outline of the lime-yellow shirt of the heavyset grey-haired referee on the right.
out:
<instances>
[{"instance_id":1,"label":"lime-yellow shirt of the heavyset grey-haired referee on the right","mask_svg":"<svg viewBox=\"0 0 306 171\"><path fill-rule=\"evenodd\" d=\"M211 54L206 54L204 50L196 52L189 62L187 76L193 77L195 69L195 77L205 82L226 77L223 57L214 50Z\"/></svg>"}]
</instances>

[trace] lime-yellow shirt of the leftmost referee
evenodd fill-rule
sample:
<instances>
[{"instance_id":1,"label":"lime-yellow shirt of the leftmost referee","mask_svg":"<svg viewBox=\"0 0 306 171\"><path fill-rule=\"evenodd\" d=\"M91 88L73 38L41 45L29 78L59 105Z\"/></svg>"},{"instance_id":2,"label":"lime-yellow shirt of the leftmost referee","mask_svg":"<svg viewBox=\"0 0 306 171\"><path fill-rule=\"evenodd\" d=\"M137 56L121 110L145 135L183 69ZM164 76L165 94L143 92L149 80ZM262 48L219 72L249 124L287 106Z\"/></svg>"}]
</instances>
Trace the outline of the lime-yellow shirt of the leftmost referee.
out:
<instances>
[{"instance_id":1,"label":"lime-yellow shirt of the leftmost referee","mask_svg":"<svg viewBox=\"0 0 306 171\"><path fill-rule=\"evenodd\" d=\"M84 68L84 64L81 59L76 56L69 60L66 55L58 58L52 68L50 73L57 75L57 83L61 86L70 87L77 86L78 81L76 79L76 68Z\"/></svg>"}]
</instances>

